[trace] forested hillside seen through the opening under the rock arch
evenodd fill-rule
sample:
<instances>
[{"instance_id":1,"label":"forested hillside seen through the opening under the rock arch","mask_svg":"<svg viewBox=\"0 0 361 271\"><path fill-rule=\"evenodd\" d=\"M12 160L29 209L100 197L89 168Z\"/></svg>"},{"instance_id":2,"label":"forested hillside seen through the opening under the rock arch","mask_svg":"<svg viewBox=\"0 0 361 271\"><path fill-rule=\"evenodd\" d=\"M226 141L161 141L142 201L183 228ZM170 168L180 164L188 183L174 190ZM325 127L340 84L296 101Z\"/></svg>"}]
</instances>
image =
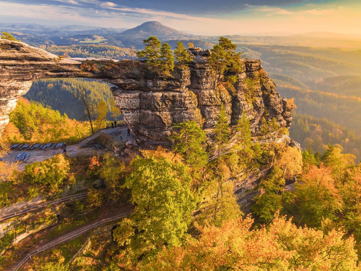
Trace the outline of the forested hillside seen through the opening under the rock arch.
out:
<instances>
[{"instance_id":1,"label":"forested hillside seen through the opening under the rock arch","mask_svg":"<svg viewBox=\"0 0 361 271\"><path fill-rule=\"evenodd\" d=\"M30 90L24 96L26 99L50 106L61 114L66 113L70 119L77 119L83 115L84 107L72 95L74 90L84 88L95 103L105 100L110 120L114 109L114 98L110 91L111 84L103 81L83 78L54 78L40 79L32 83Z\"/></svg>"}]
</instances>

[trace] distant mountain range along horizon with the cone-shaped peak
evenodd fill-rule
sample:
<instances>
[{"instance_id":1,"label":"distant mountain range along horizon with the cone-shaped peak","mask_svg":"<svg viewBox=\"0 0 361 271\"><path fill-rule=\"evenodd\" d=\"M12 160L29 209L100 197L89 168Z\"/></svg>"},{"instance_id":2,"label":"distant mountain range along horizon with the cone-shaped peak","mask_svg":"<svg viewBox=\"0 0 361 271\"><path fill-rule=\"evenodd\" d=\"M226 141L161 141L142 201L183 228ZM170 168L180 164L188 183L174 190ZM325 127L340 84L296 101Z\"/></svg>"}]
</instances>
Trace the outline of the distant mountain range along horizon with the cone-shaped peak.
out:
<instances>
[{"instance_id":1,"label":"distant mountain range along horizon with the cone-shaped peak","mask_svg":"<svg viewBox=\"0 0 361 271\"><path fill-rule=\"evenodd\" d=\"M36 23L0 23L0 30L11 32L16 38L33 46L43 45L77 45L104 44L118 47L135 46L143 48L143 40L150 35L157 36L162 42L171 43L172 48L178 40L186 46L188 42L196 46L210 48L219 36L201 36L187 34L157 21L142 23L131 29L104 28L83 25L39 25ZM228 35L238 44L263 44L284 46L318 46L336 47L349 50L361 49L361 35L339 34L328 32L309 32L292 34L272 31L261 33L244 33Z\"/></svg>"}]
</instances>

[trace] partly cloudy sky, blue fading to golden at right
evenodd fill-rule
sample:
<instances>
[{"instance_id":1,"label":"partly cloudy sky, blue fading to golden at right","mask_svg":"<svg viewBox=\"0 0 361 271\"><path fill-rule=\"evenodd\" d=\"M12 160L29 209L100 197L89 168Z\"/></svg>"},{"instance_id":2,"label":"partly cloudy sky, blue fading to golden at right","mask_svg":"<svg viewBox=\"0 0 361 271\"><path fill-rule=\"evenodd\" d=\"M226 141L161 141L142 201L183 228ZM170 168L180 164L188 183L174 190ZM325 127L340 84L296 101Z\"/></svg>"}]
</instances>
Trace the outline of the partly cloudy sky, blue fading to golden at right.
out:
<instances>
[{"instance_id":1,"label":"partly cloudy sky, blue fading to golden at right","mask_svg":"<svg viewBox=\"0 0 361 271\"><path fill-rule=\"evenodd\" d=\"M360 0L0 0L0 22L132 28L158 21L199 35L361 34Z\"/></svg>"}]
</instances>

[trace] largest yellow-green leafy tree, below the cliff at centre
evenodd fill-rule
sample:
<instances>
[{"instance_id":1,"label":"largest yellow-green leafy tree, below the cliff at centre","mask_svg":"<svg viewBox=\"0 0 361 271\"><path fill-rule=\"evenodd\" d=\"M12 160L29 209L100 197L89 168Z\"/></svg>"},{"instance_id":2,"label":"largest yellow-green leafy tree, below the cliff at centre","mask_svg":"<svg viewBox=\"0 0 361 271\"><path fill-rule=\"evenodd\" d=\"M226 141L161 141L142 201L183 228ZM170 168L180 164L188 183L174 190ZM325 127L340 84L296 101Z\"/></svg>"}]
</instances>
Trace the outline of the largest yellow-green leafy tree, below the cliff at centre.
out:
<instances>
[{"instance_id":1,"label":"largest yellow-green leafy tree, below the cliff at centre","mask_svg":"<svg viewBox=\"0 0 361 271\"><path fill-rule=\"evenodd\" d=\"M127 258L136 263L148 261L164 245L180 245L195 208L187 167L173 154L159 148L144 151L130 164L134 170L126 177L135 210L127 234Z\"/></svg>"}]
</instances>

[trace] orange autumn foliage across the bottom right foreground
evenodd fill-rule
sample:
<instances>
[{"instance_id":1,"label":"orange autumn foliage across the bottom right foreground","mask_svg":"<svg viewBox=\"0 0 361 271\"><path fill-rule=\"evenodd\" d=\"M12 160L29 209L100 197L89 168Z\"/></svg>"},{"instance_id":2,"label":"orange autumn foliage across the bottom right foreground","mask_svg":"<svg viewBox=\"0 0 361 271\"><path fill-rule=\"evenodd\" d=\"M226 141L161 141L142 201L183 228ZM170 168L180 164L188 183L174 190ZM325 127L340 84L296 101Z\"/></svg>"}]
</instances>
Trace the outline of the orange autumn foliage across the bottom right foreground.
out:
<instances>
[{"instance_id":1,"label":"orange autumn foliage across the bottom right foreground","mask_svg":"<svg viewBox=\"0 0 361 271\"><path fill-rule=\"evenodd\" d=\"M222 227L198 227L200 235L183 246L164 248L140 270L360 270L353 237L297 227L276 216L268 228L252 229L253 220L225 221Z\"/></svg>"}]
</instances>

